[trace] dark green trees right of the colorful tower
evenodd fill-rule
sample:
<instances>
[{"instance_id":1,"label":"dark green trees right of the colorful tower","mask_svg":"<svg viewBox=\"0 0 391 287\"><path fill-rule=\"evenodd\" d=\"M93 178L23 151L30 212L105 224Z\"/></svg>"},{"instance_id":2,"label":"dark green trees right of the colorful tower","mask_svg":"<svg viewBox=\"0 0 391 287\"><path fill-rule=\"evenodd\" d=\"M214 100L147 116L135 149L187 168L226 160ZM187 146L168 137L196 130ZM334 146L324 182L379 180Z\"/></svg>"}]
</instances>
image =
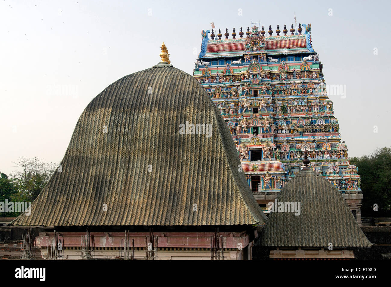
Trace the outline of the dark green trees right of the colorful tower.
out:
<instances>
[{"instance_id":1,"label":"dark green trees right of the colorful tower","mask_svg":"<svg viewBox=\"0 0 391 287\"><path fill-rule=\"evenodd\" d=\"M366 217L391 216L391 148L379 148L370 155L350 160L361 177L361 212ZM378 211L373 205L378 205Z\"/></svg>"}]
</instances>

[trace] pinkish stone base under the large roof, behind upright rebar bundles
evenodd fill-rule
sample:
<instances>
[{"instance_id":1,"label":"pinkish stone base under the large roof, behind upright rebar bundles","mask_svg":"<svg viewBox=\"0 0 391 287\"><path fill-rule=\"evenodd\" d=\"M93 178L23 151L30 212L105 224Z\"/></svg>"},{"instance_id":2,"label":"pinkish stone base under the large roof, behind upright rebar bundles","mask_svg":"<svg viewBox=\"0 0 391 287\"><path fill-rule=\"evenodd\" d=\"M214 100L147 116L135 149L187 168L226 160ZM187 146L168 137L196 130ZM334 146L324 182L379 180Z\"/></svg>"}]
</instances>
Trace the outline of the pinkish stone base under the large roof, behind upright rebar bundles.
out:
<instances>
[{"instance_id":1,"label":"pinkish stone base under the large roof, behind upright rebar bundles","mask_svg":"<svg viewBox=\"0 0 391 287\"><path fill-rule=\"evenodd\" d=\"M62 241L64 260L82 259L82 236L85 232L57 232ZM54 232L40 232L36 237L36 246L41 249L42 258L46 259L48 249L53 244ZM142 260L145 256L146 236L149 232L128 232L129 239L134 239L135 259ZM211 236L214 232L153 232L157 237L158 260L210 260ZM223 253L220 260L251 260L253 240L258 236L256 227L240 232L219 232L223 242ZM124 232L90 232L93 238L94 259L119 259L121 239ZM122 245L123 246L123 245Z\"/></svg>"}]
</instances>

